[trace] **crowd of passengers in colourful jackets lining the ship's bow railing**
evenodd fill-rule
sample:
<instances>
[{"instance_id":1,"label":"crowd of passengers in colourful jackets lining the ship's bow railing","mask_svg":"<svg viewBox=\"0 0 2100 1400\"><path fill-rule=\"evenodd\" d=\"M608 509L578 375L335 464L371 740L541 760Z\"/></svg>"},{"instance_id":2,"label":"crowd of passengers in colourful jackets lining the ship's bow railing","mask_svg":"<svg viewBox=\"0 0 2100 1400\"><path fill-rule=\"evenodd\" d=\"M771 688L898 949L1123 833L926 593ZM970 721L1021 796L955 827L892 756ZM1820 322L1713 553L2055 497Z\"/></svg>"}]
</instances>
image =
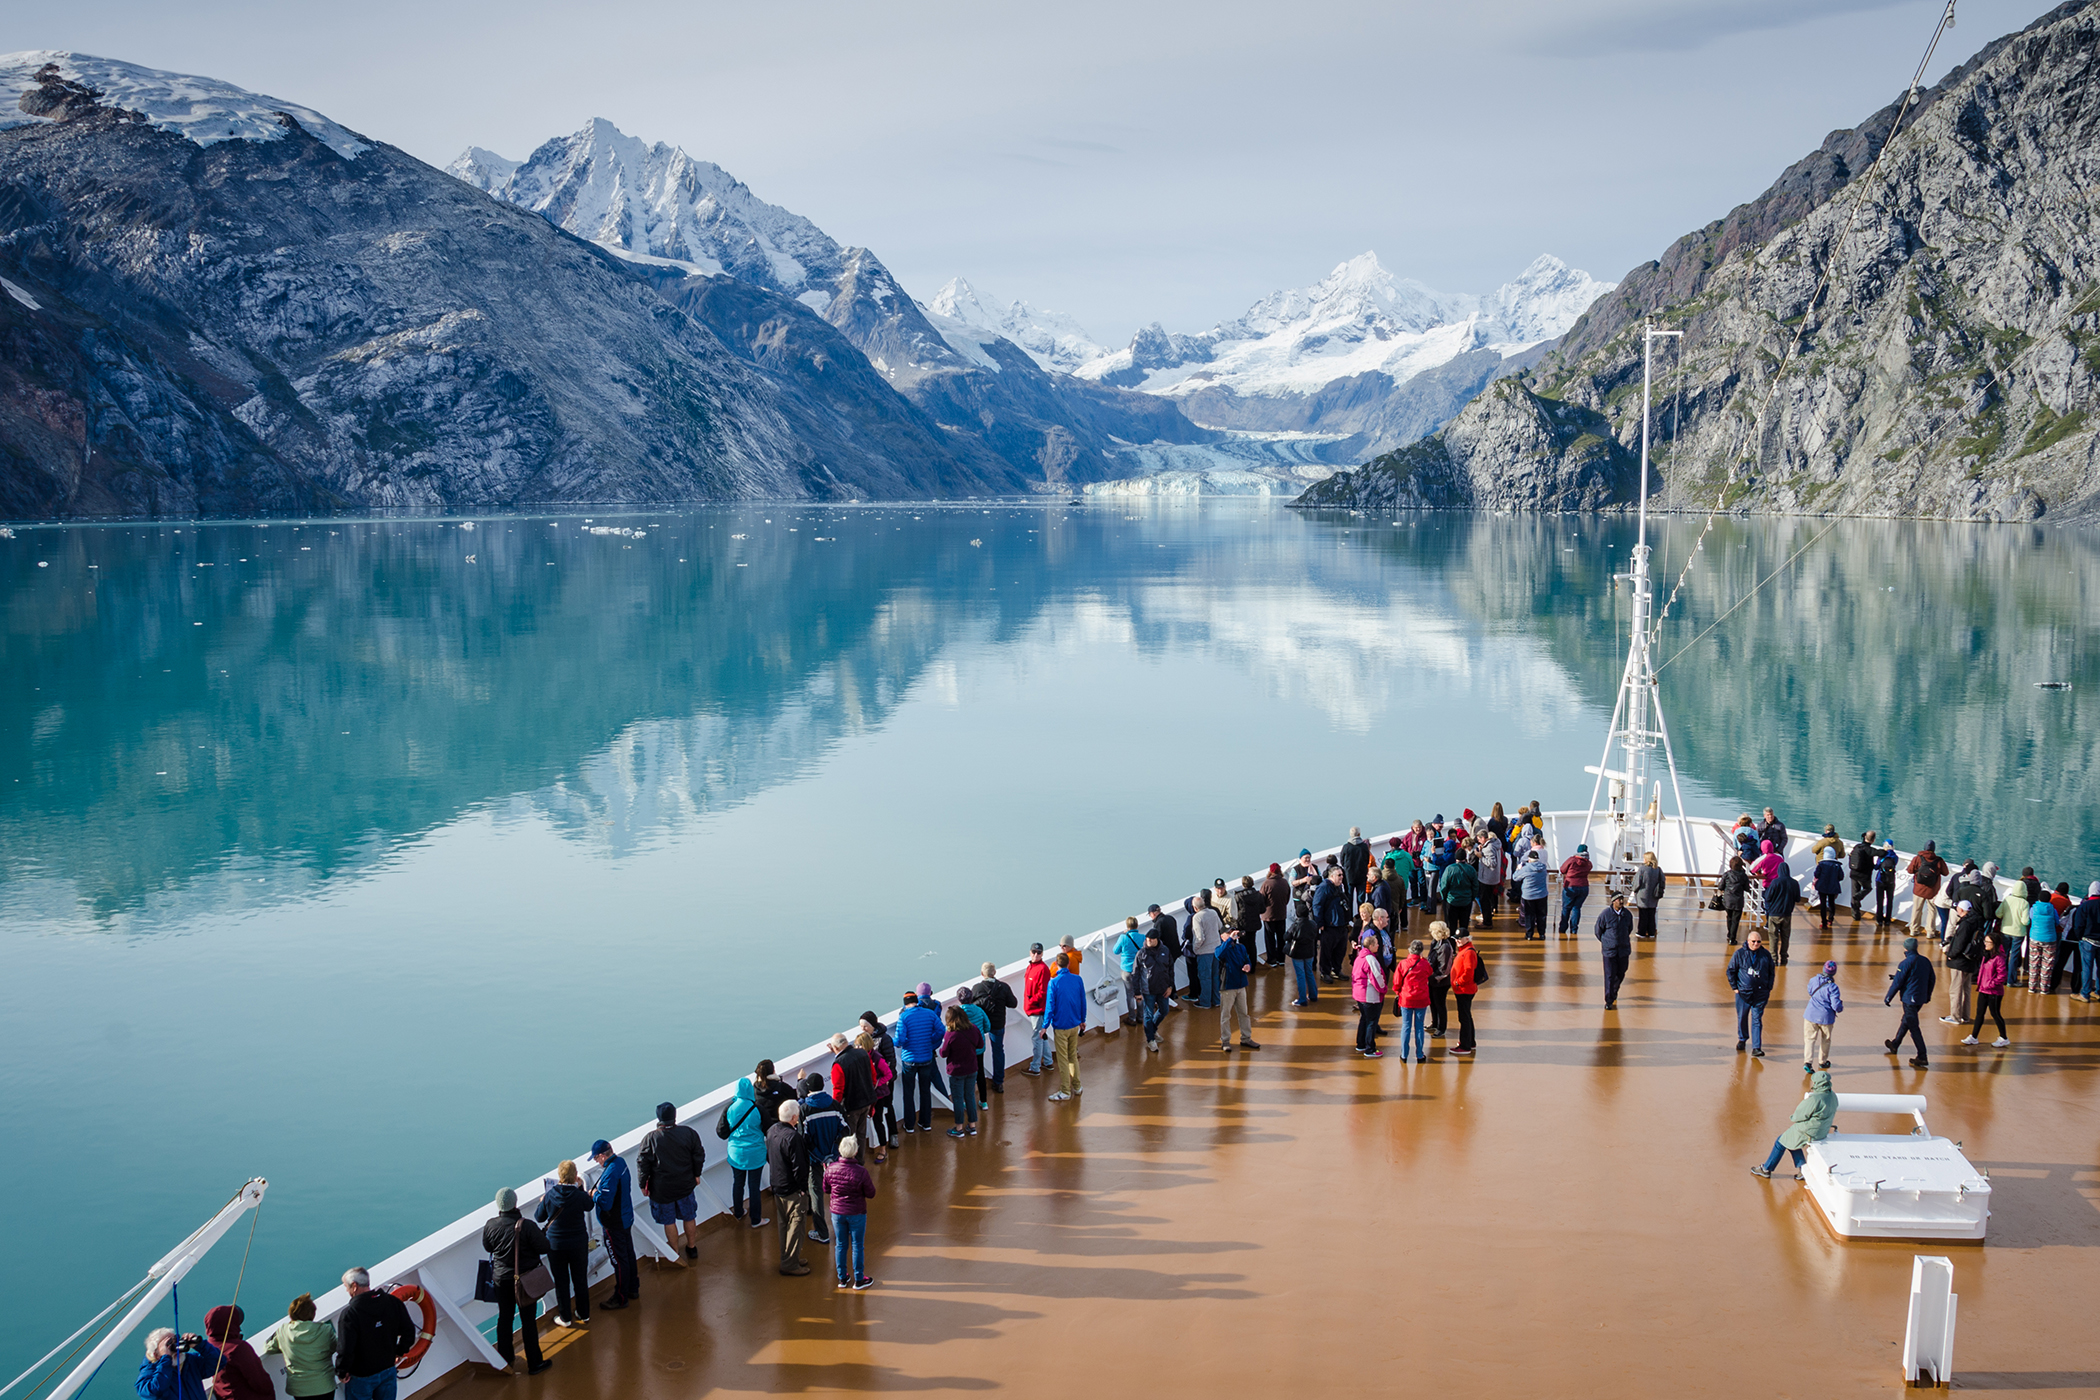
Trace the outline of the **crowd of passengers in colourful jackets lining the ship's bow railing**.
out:
<instances>
[{"instance_id":1,"label":"crowd of passengers in colourful jackets lining the ship's bow railing","mask_svg":"<svg viewBox=\"0 0 2100 1400\"><path fill-rule=\"evenodd\" d=\"M1737 1052L1764 1056L1764 1012L1777 970L1787 966L1796 911L1810 905L1819 928L1831 930L1846 882L1854 924L1867 919L1871 896L1875 928L1890 928L1898 882L1915 896L1905 955L1884 993L1884 1003L1900 1005L1900 1022L1884 1047L1900 1054L1907 1037L1917 1068L1928 1068L1919 1016L1940 980L1926 945L1947 968L1949 1014L1940 1020L1968 1024L1964 1045L1980 1043L1987 1018L1997 1028L1993 1045L2010 1045L2001 1007L2022 974L2035 995L2056 993L2060 978L2073 976L2077 999L2100 1001L2100 882L2083 900L2073 900L2068 884L2048 888L2029 867L2001 894L1995 863L1966 861L1951 869L1934 842L1905 863L1894 842L1875 831L1848 844L1825 827L1812 846L1810 900L1787 869L1787 829L1772 808L1764 808L1762 821L1743 814L1730 844L1735 852L1720 871L1714 905L1726 915L1732 949L1726 980L1735 997ZM1499 802L1487 814L1468 808L1449 823L1438 812L1413 821L1384 848L1350 827L1348 842L1331 856L1300 850L1287 865L1273 863L1260 882L1252 875L1237 886L1214 879L1176 907L1151 905L1142 919L1126 917L1107 947L1121 978L1100 984L1128 999L1117 1010L1126 1022L1142 1026L1147 1054L1166 1049L1161 1026L1178 1012L1216 1012L1220 1054L1258 1052L1250 980L1287 968L1289 1007L1296 1010L1319 1005L1323 984L1348 984L1357 1012L1354 1054L1384 1056L1382 1018L1390 997L1403 1062L1409 1054L1428 1062L1430 1041L1451 1039L1447 1018L1453 1012L1457 1037L1449 1056L1464 1058L1476 1052L1474 997L1489 980L1474 932L1510 909L1525 940L1544 940L1554 875L1560 884L1554 934L1579 934L1596 867L1588 846L1550 863L1537 802L1514 816ZM1657 938L1665 884L1651 852L1628 873L1625 888L1609 890L1596 911L1592 934L1602 955L1606 1012L1617 1010L1636 945ZM1747 932L1745 915L1751 917ZM2075 957L2064 957L2064 949ZM731 1219L752 1230L775 1224L783 1276L811 1272L804 1245L815 1243L832 1251L838 1289L874 1287L867 1211L878 1186L869 1167L886 1163L903 1138L939 1131L937 1098L949 1106L949 1138L979 1136L981 1117L1006 1094L1010 1012L1018 1012L1029 1031L1018 1073L1050 1077L1050 1102L1082 1096L1079 1037L1090 1014L1082 961L1077 940L1065 936L1048 955L1042 942L1029 947L1018 993L989 961L981 980L958 989L947 1003L920 982L903 995L895 1026L863 1012L850 1031L830 1039L830 1073L806 1075L800 1083L760 1060L737 1081L714 1123L731 1167ZM1802 1070L1812 1091L1772 1144L1770 1159L1754 1169L1760 1178L1770 1178L1785 1152L1800 1165L1802 1150L1829 1131L1835 1112L1831 1043L1844 1010L1838 963L1825 961L1808 982L1802 1012ZM588 1171L573 1161L559 1163L531 1219L512 1190L496 1194L496 1215L481 1236L487 1261L477 1297L498 1308L496 1352L506 1366L517 1360L514 1331L523 1333L527 1373L552 1366L540 1352L536 1322L548 1293L556 1327L588 1324L592 1224L613 1266L607 1310L626 1308L640 1295L632 1234L638 1203L664 1234L670 1253L664 1266L685 1268L699 1257L697 1192L708 1148L697 1129L676 1121L674 1104L657 1104L634 1171L605 1140L590 1146L590 1163ZM766 1188L773 1217L764 1215ZM284 1356L296 1398L330 1396L340 1383L349 1400L393 1400L395 1366L416 1345L418 1331L399 1299L370 1287L365 1270L351 1270L342 1282L351 1301L334 1324L317 1322L313 1297L300 1295L265 1352ZM208 1387L225 1400L271 1396L260 1360L242 1341L242 1320L239 1308L214 1308L204 1337L155 1331L147 1339L139 1394L202 1400Z\"/></svg>"}]
</instances>

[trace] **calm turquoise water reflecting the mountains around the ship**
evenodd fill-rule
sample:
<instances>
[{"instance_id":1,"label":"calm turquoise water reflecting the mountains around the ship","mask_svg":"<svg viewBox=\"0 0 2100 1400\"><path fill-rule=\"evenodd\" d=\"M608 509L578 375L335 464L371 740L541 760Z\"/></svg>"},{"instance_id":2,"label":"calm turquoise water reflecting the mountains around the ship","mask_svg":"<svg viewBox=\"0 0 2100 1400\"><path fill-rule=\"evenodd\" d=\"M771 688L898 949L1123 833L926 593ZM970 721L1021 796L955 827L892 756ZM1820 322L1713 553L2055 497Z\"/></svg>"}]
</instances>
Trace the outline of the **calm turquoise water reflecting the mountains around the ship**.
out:
<instances>
[{"instance_id":1,"label":"calm turquoise water reflecting the mountains around the ship","mask_svg":"<svg viewBox=\"0 0 2100 1400\"><path fill-rule=\"evenodd\" d=\"M1132 510L0 542L0 1381L248 1175L267 1318L922 976L1588 802L1630 527ZM1661 655L1814 529L1720 527ZM1665 670L1686 804L2100 875L2096 584L2092 533L1840 527Z\"/></svg>"}]
</instances>

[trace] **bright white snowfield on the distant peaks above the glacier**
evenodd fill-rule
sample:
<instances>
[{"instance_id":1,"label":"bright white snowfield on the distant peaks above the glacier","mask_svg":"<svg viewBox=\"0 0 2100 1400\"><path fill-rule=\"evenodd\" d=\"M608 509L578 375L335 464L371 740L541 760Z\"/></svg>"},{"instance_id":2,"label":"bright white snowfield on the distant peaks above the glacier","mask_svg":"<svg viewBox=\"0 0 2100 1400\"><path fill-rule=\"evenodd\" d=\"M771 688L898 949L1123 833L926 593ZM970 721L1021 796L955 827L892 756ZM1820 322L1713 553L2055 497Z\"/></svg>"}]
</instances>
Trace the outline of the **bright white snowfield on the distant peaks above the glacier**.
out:
<instances>
[{"instance_id":1,"label":"bright white snowfield on the distant peaks above the glacier","mask_svg":"<svg viewBox=\"0 0 2100 1400\"><path fill-rule=\"evenodd\" d=\"M1541 256L1514 281L1478 298L1394 277L1378 254L1365 252L1319 283L1275 292L1208 332L1170 334L1149 325L1128 348L1075 374L1168 397L1203 388L1308 395L1373 372L1405 384L1468 351L1516 355L1552 340L1611 288L1560 258Z\"/></svg>"}]
</instances>

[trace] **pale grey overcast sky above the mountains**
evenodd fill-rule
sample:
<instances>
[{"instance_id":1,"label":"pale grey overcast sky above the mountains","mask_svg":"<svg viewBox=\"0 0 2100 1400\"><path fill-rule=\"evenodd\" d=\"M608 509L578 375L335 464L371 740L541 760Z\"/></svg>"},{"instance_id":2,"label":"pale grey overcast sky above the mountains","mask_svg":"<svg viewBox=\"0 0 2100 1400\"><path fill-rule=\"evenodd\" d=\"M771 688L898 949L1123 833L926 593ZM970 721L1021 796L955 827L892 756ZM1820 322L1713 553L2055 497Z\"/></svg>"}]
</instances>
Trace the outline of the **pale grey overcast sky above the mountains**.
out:
<instances>
[{"instance_id":1,"label":"pale grey overcast sky above the mountains","mask_svg":"<svg viewBox=\"0 0 2100 1400\"><path fill-rule=\"evenodd\" d=\"M603 115L1096 340L1203 330L1371 250L1615 281L1900 94L1942 0L0 0L6 48L208 73L443 166ZM2041 15L1961 0L1928 82Z\"/></svg>"}]
</instances>

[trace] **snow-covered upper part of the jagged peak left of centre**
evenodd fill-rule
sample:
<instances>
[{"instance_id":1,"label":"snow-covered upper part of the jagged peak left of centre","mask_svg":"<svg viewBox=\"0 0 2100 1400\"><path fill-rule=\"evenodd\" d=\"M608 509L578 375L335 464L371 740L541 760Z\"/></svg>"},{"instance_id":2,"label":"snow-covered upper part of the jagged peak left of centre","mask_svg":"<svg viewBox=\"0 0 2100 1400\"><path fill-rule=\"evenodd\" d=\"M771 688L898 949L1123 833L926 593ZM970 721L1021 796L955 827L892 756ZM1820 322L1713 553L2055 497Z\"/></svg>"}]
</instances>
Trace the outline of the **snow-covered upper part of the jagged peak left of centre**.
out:
<instances>
[{"instance_id":1,"label":"snow-covered upper part of the jagged peak left of centre","mask_svg":"<svg viewBox=\"0 0 2100 1400\"><path fill-rule=\"evenodd\" d=\"M844 262L823 229L766 204L714 162L647 145L605 118L523 162L468 147L445 170L638 262L727 273L796 298L830 292Z\"/></svg>"}]
</instances>

